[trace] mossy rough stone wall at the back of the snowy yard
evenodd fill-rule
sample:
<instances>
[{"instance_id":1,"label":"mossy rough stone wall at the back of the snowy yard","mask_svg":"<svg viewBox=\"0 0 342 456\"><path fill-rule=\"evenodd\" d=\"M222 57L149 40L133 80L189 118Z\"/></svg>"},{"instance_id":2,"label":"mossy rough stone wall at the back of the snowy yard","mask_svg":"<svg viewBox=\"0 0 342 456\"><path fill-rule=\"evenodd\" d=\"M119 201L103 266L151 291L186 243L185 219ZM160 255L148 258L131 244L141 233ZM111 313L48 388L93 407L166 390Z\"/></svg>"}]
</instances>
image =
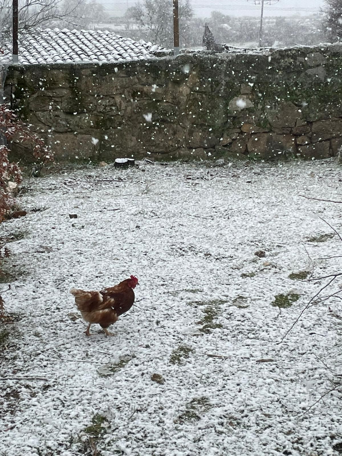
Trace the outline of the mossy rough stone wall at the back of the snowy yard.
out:
<instances>
[{"instance_id":1,"label":"mossy rough stone wall at the back of the snowy yard","mask_svg":"<svg viewBox=\"0 0 342 456\"><path fill-rule=\"evenodd\" d=\"M342 45L9 67L6 93L59 160L326 158L342 145ZM22 145L13 146L22 155Z\"/></svg>"}]
</instances>

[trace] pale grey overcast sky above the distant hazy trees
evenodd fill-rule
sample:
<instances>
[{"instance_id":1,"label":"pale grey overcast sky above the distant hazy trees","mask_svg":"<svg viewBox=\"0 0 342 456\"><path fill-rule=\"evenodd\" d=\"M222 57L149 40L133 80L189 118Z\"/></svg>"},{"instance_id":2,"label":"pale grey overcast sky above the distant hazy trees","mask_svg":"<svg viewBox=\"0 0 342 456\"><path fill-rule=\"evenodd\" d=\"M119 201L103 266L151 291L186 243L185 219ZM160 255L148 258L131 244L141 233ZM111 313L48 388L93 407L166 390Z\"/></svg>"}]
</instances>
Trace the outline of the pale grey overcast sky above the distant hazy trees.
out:
<instances>
[{"instance_id":1,"label":"pale grey overcast sky above the distant hazy trees","mask_svg":"<svg viewBox=\"0 0 342 456\"><path fill-rule=\"evenodd\" d=\"M136 0L99 0L104 4L111 16L122 16L128 6ZM258 0L257 0L258 1ZM265 0L264 16L309 16L319 11L324 0L279 0L268 5ZM198 17L210 16L211 11L221 11L229 16L260 16L260 5L254 5L254 0L192 0L195 15Z\"/></svg>"}]
</instances>

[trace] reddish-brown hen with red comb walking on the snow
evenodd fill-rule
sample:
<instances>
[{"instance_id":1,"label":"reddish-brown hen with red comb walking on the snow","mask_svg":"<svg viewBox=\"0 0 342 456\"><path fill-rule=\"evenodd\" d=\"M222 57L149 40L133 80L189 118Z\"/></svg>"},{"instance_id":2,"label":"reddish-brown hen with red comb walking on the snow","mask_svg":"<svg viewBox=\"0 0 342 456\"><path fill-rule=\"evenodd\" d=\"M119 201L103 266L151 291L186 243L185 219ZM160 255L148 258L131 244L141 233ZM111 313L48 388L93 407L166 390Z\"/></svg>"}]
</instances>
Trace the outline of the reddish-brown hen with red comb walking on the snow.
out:
<instances>
[{"instance_id":1,"label":"reddish-brown hen with red comb walking on the snow","mask_svg":"<svg viewBox=\"0 0 342 456\"><path fill-rule=\"evenodd\" d=\"M133 289L136 285L139 285L138 279L131 275L130 279L123 280L119 285L105 288L102 291L84 291L72 288L70 293L75 296L76 306L81 311L83 320L89 323L85 334L90 336L90 325L98 323L103 327L107 336L113 336L107 328L133 306L135 299Z\"/></svg>"}]
</instances>

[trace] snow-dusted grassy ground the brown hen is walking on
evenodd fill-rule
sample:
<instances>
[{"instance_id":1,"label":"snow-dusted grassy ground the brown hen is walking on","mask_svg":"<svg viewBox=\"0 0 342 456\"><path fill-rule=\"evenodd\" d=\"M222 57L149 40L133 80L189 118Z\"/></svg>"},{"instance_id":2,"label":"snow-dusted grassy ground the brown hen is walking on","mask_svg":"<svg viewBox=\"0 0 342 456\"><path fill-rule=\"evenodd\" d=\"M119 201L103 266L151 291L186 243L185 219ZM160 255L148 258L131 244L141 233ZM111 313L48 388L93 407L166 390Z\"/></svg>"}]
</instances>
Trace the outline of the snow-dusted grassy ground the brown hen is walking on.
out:
<instances>
[{"instance_id":1,"label":"snow-dusted grassy ground the brown hen is walking on","mask_svg":"<svg viewBox=\"0 0 342 456\"><path fill-rule=\"evenodd\" d=\"M339 454L341 302L310 307L279 342L327 281L288 276L341 271L322 259L341 240L318 216L338 231L342 204L300 196L341 201L340 176L332 160L37 179L20 197L32 212L1 225L25 237L6 266L19 275L6 308L21 319L1 355L0 454ZM131 274L136 302L114 337L97 325L86 337L70 288ZM292 306L271 305L290 293Z\"/></svg>"}]
</instances>

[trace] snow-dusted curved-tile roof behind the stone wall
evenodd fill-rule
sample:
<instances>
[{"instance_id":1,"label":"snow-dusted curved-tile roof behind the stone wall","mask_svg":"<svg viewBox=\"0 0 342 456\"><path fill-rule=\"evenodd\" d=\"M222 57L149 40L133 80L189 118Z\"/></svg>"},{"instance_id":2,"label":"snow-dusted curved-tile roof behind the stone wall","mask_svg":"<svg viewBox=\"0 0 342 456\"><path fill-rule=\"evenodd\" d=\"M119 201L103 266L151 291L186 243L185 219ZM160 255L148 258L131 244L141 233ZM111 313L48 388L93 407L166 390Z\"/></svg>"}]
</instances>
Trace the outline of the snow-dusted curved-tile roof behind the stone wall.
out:
<instances>
[{"instance_id":1,"label":"snow-dusted curved-tile roof behind the stone wall","mask_svg":"<svg viewBox=\"0 0 342 456\"><path fill-rule=\"evenodd\" d=\"M105 31L36 30L19 36L19 63L108 63L144 60L153 57L159 46ZM0 63L12 60L12 43L2 47Z\"/></svg>"}]
</instances>

